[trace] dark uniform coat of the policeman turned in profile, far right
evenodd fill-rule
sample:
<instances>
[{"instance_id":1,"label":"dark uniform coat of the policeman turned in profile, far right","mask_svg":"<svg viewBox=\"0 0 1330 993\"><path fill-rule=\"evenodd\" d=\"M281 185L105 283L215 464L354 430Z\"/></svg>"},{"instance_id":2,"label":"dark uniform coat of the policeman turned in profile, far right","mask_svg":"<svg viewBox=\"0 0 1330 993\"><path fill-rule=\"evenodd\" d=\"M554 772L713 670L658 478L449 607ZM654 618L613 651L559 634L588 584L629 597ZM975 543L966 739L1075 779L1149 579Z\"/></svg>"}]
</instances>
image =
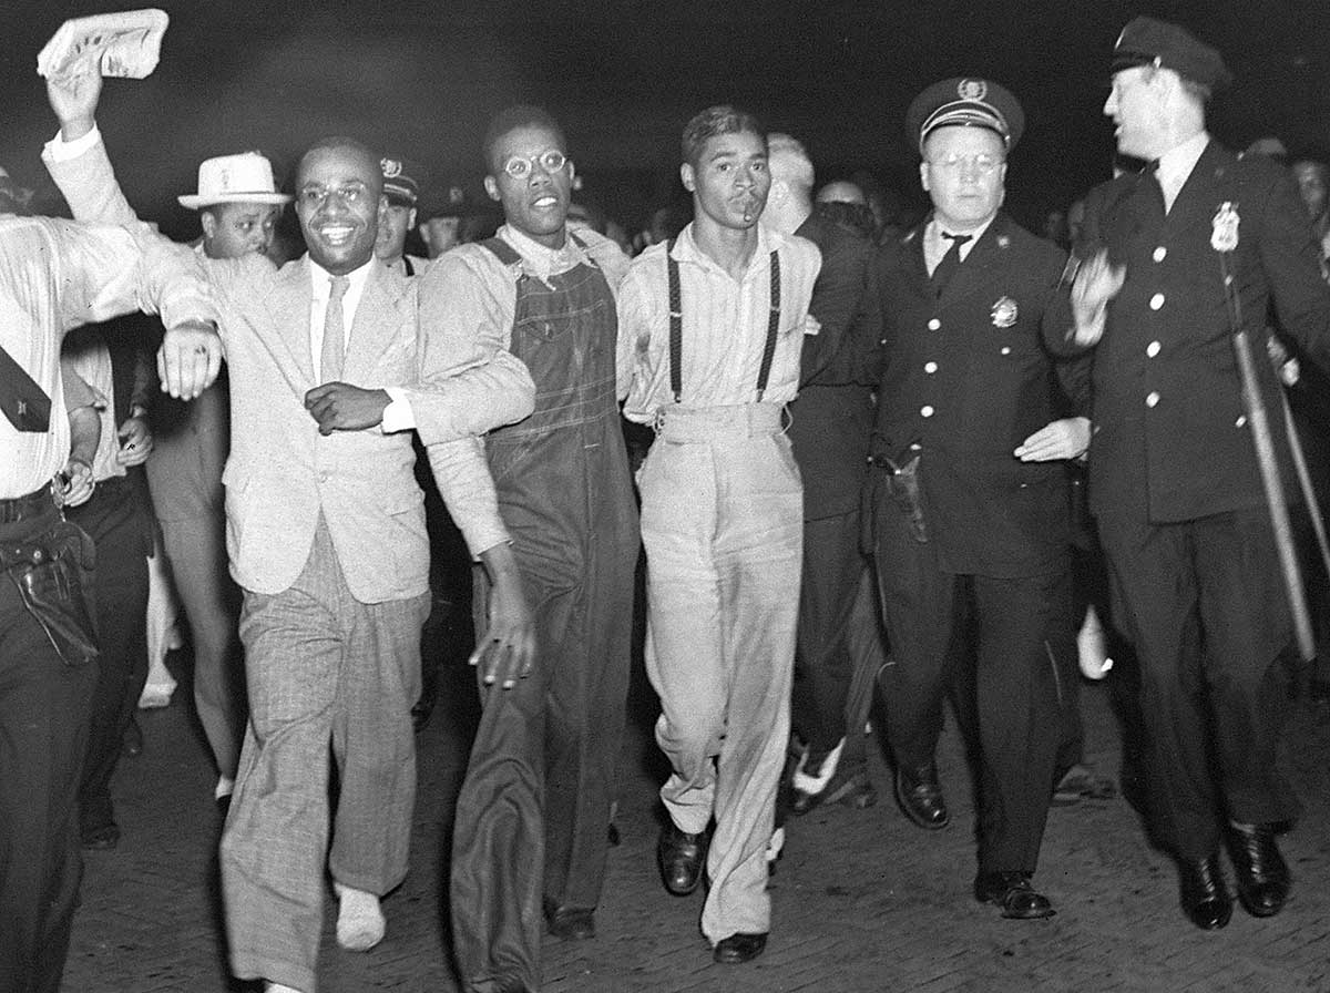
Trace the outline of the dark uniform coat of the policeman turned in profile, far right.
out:
<instances>
[{"instance_id":1,"label":"dark uniform coat of the policeman turned in profile, far right","mask_svg":"<svg viewBox=\"0 0 1330 993\"><path fill-rule=\"evenodd\" d=\"M1232 271L1242 323L1281 464L1289 465L1278 384L1265 358L1267 307L1273 300L1279 326L1325 366L1330 288L1287 170L1260 156L1240 160L1212 141L1166 217L1149 174L1119 177L1087 198L1076 254L1107 246L1111 261L1127 266L1093 355L1089 493L1099 516L1184 521L1265 498L1210 246L1225 201L1240 217ZM1285 491L1295 492L1291 477Z\"/></svg>"}]
</instances>

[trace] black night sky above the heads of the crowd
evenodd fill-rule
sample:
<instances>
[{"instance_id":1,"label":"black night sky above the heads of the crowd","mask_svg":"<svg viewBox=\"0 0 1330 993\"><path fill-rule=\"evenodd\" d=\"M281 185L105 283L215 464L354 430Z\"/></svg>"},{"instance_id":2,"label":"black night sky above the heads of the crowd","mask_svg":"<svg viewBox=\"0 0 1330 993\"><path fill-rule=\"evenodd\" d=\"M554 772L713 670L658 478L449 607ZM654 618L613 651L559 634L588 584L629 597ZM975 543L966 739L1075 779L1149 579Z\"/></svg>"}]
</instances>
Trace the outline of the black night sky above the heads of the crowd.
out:
<instances>
[{"instance_id":1,"label":"black night sky above the heads of the crowd","mask_svg":"<svg viewBox=\"0 0 1330 993\"><path fill-rule=\"evenodd\" d=\"M41 45L66 17L142 3L4 3L0 164L31 186L55 132ZM584 197L629 225L681 193L678 133L713 102L746 105L805 141L819 181L857 167L916 201L900 121L928 82L983 74L1027 114L1008 203L1037 225L1105 178L1109 52L1137 13L1216 44L1237 85L1210 130L1330 153L1330 0L287 0L160 4L157 72L112 81L98 114L130 199L178 235L201 158L259 148L286 169L315 137L352 134L426 164L435 187L479 194L485 120L516 100L568 132Z\"/></svg>"}]
</instances>

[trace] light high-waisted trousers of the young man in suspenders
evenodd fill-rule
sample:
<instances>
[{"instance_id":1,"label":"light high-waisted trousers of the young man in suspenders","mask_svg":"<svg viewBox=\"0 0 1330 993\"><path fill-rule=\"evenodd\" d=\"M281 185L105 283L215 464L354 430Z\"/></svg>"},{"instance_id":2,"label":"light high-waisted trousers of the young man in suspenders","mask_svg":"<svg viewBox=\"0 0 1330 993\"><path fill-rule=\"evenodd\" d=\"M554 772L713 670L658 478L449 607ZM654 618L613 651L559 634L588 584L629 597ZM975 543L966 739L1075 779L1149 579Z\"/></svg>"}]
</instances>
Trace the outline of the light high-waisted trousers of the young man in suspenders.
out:
<instances>
[{"instance_id":1,"label":"light high-waisted trousers of the young man in suspenders","mask_svg":"<svg viewBox=\"0 0 1330 993\"><path fill-rule=\"evenodd\" d=\"M638 476L646 674L680 829L716 831L702 933L767 932L766 844L790 736L803 485L781 407L666 408Z\"/></svg>"}]
</instances>

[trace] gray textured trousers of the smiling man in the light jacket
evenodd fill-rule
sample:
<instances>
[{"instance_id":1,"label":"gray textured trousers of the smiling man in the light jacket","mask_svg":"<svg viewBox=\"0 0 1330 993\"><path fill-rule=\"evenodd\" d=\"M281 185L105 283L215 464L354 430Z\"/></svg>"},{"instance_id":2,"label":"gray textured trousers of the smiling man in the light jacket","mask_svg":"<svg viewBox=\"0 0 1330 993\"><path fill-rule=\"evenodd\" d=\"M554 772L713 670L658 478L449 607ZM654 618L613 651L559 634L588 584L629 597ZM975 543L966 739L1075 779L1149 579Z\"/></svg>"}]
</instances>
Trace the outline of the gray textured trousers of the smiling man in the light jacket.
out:
<instances>
[{"instance_id":1,"label":"gray textured trousers of the smiling man in the light jacket","mask_svg":"<svg viewBox=\"0 0 1330 993\"><path fill-rule=\"evenodd\" d=\"M238 977L314 993L325 864L335 881L379 896L406 877L428 611L428 593L356 601L322 520L289 589L245 592L250 722L221 855ZM330 746L340 783L331 851Z\"/></svg>"}]
</instances>

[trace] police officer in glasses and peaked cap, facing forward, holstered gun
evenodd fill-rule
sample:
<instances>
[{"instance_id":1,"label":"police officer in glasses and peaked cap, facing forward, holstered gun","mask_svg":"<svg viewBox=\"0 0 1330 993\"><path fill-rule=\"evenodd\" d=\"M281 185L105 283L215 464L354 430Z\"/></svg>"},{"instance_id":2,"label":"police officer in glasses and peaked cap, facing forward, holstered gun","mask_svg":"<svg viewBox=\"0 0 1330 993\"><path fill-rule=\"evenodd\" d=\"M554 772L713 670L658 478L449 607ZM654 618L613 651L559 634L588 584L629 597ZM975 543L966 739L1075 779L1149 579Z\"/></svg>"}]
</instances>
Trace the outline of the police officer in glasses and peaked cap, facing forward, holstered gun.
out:
<instances>
[{"instance_id":1,"label":"police officer in glasses and peaked cap, facing forward, holstered gun","mask_svg":"<svg viewBox=\"0 0 1330 993\"><path fill-rule=\"evenodd\" d=\"M1055 421L1043 342L1064 255L1000 210L1023 125L1015 97L988 80L939 82L910 106L934 210L882 257L870 492L895 659L896 798L920 827L947 824L934 748L958 663L974 666L975 699L962 709L975 714L982 766L975 896L1033 919L1053 913L1031 876L1059 744L1049 646L1071 625L1059 460L1084 448L1088 427Z\"/></svg>"}]
</instances>

